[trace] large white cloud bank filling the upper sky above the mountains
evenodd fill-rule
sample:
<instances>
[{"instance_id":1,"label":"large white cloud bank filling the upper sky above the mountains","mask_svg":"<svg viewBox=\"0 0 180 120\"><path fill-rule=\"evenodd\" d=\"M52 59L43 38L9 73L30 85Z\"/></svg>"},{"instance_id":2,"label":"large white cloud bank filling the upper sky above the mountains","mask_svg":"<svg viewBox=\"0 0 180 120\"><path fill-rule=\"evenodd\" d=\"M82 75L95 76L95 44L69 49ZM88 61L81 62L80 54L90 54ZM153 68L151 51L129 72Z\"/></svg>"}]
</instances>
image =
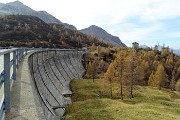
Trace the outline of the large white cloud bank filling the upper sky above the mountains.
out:
<instances>
[{"instance_id":1,"label":"large white cloud bank filling the upper sky above the mountains","mask_svg":"<svg viewBox=\"0 0 180 120\"><path fill-rule=\"evenodd\" d=\"M14 0L1 0L9 1ZM45 0L43 3L37 0L20 1L35 10L46 10L79 29L96 23L113 26L132 17L149 22L180 16L180 0Z\"/></svg>"}]
</instances>

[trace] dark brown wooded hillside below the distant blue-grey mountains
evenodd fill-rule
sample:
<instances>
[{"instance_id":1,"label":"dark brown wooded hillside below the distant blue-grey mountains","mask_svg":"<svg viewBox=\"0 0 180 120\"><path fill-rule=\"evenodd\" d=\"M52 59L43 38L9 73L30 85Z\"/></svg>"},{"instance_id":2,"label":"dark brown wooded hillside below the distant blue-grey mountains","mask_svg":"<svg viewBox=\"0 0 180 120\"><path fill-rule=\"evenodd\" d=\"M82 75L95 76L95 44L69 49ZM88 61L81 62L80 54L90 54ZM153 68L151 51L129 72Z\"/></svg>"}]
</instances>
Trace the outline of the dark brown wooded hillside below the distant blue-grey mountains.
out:
<instances>
[{"instance_id":1,"label":"dark brown wooded hillside below the distant blue-grey mountains","mask_svg":"<svg viewBox=\"0 0 180 120\"><path fill-rule=\"evenodd\" d=\"M1 46L81 48L92 43L108 46L77 30L47 24L38 17L27 15L0 17L0 33Z\"/></svg>"}]
</instances>

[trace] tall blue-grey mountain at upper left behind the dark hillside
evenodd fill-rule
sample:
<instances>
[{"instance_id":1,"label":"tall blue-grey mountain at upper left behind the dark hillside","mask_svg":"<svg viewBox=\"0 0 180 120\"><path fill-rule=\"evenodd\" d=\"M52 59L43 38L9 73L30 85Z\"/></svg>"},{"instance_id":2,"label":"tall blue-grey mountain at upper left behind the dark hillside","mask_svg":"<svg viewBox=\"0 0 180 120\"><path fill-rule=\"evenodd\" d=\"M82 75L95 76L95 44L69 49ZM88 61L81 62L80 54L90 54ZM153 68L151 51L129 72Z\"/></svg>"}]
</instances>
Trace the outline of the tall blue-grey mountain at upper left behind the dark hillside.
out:
<instances>
[{"instance_id":1,"label":"tall blue-grey mountain at upper left behind the dark hillside","mask_svg":"<svg viewBox=\"0 0 180 120\"><path fill-rule=\"evenodd\" d=\"M61 24L65 28L76 30L76 27L74 27L73 25L62 23L60 20L47 13L46 11L35 11L19 1L10 2L7 4L0 3L0 16L17 14L36 16L46 23Z\"/></svg>"}]
</instances>

